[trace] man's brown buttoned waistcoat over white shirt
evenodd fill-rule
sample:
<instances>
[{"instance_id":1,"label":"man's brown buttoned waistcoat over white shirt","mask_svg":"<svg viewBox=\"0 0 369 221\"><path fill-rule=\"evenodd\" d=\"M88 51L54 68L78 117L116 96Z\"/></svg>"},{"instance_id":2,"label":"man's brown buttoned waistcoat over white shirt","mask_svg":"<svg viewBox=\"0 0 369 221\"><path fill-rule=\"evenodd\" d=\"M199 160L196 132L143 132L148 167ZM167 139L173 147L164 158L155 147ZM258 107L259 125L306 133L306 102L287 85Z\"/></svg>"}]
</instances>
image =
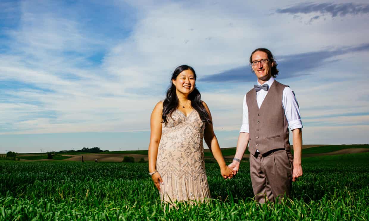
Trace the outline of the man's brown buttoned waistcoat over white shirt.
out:
<instances>
[{"instance_id":1,"label":"man's brown buttoned waistcoat over white shirt","mask_svg":"<svg viewBox=\"0 0 369 221\"><path fill-rule=\"evenodd\" d=\"M260 106L256 102L256 91L252 88L246 94L249 111L249 151L255 155L285 148L290 150L289 130L282 106L283 90L287 85L274 81Z\"/></svg>"}]
</instances>

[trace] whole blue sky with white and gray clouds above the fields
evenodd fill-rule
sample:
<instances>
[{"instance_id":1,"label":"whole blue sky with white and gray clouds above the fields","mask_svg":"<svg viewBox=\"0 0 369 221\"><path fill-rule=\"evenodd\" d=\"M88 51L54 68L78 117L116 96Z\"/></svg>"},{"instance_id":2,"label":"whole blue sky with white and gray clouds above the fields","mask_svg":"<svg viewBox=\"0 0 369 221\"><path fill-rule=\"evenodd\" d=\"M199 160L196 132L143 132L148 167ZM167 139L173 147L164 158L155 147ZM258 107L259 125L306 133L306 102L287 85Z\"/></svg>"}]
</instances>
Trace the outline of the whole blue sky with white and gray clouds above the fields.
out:
<instances>
[{"instance_id":1,"label":"whole blue sky with white and gray clouds above the fields","mask_svg":"<svg viewBox=\"0 0 369 221\"><path fill-rule=\"evenodd\" d=\"M259 47L299 101L304 144L369 143L365 1L1 1L0 152L147 150L176 66L235 147Z\"/></svg>"}]
</instances>

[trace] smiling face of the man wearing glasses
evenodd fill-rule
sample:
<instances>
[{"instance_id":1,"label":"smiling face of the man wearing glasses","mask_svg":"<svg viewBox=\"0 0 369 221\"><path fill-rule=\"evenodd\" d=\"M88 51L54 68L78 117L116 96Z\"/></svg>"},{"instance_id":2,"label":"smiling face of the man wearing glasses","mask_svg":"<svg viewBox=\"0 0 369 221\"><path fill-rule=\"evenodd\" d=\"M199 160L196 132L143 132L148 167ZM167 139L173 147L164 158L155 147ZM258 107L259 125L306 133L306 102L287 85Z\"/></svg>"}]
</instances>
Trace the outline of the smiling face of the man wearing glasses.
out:
<instances>
[{"instance_id":1,"label":"smiling face of the man wearing glasses","mask_svg":"<svg viewBox=\"0 0 369 221\"><path fill-rule=\"evenodd\" d=\"M265 52L257 51L255 52L252 57L251 61L261 61L262 59L268 59L268 55ZM270 77L272 77L272 67L273 62L267 62L262 64L258 62L255 66L252 66L252 70L254 70L256 77L262 81L268 81Z\"/></svg>"}]
</instances>

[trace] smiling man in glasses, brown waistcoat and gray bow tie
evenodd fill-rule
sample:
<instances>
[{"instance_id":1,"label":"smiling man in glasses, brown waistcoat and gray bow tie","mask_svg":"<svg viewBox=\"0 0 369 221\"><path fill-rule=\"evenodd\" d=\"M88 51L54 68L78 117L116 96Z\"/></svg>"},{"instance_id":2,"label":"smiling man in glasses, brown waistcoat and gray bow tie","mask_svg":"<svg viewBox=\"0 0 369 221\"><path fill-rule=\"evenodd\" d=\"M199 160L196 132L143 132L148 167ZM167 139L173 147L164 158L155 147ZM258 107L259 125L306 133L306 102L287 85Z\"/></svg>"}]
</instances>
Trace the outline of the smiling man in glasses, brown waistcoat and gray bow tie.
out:
<instances>
[{"instance_id":1,"label":"smiling man in glasses, brown waistcoat and gray bow tie","mask_svg":"<svg viewBox=\"0 0 369 221\"><path fill-rule=\"evenodd\" d=\"M255 200L276 202L290 195L292 181L302 175L302 123L293 91L274 80L278 74L272 53L265 48L252 52L249 60L258 78L243 101L242 126L231 169L239 164L249 145L250 175ZM289 129L293 133L292 157Z\"/></svg>"}]
</instances>

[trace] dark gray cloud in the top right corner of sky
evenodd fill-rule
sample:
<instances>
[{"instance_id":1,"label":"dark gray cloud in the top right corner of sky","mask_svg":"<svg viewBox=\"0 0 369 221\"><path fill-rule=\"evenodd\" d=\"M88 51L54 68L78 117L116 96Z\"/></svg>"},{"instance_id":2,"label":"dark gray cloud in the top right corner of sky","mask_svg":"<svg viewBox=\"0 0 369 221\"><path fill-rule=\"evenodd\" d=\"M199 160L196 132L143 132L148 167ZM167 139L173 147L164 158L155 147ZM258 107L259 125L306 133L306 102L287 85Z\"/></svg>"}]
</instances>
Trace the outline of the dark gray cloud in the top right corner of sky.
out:
<instances>
[{"instance_id":1,"label":"dark gray cloud in the top right corner of sky","mask_svg":"<svg viewBox=\"0 0 369 221\"><path fill-rule=\"evenodd\" d=\"M344 17L346 15L369 14L369 4L355 3L300 3L288 8L278 8L279 14L330 14L333 17ZM316 19L316 18L315 18Z\"/></svg>"}]
</instances>

